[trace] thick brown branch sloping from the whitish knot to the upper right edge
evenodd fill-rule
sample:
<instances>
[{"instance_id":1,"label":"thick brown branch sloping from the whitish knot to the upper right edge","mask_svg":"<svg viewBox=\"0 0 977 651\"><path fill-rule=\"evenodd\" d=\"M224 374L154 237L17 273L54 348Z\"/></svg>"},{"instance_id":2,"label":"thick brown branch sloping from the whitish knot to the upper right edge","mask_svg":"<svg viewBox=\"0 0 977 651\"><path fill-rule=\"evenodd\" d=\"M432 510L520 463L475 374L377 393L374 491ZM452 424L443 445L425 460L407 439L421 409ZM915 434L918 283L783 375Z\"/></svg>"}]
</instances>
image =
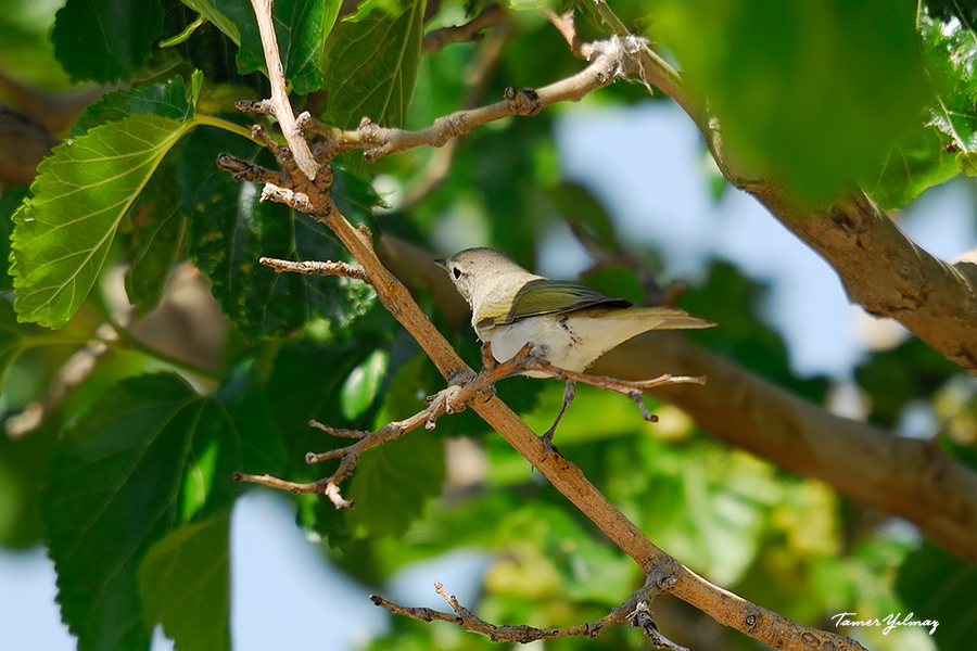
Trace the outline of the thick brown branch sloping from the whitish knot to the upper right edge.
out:
<instances>
[{"instance_id":1,"label":"thick brown branch sloping from the whitish knot to the upper right edge","mask_svg":"<svg viewBox=\"0 0 977 651\"><path fill-rule=\"evenodd\" d=\"M896 319L970 373L977 373L977 265L944 263L912 242L863 192L803 206L778 183L738 169L719 125L678 73L650 49L640 75L675 100L702 132L723 176L756 196L837 271L852 303Z\"/></svg>"}]
</instances>

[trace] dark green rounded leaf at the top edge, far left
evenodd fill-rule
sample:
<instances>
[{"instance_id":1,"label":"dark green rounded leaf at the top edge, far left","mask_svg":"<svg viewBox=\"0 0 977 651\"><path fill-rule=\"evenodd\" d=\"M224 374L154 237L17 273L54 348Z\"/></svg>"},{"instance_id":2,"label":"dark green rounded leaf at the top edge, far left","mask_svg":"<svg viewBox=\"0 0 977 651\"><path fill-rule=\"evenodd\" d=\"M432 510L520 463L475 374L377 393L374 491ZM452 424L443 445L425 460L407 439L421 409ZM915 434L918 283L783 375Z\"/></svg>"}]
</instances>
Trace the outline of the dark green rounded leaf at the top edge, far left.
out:
<instances>
[{"instance_id":1,"label":"dark green rounded leaf at the top edge, far left","mask_svg":"<svg viewBox=\"0 0 977 651\"><path fill-rule=\"evenodd\" d=\"M54 55L73 81L131 79L163 35L158 0L67 0L54 20Z\"/></svg>"}]
</instances>

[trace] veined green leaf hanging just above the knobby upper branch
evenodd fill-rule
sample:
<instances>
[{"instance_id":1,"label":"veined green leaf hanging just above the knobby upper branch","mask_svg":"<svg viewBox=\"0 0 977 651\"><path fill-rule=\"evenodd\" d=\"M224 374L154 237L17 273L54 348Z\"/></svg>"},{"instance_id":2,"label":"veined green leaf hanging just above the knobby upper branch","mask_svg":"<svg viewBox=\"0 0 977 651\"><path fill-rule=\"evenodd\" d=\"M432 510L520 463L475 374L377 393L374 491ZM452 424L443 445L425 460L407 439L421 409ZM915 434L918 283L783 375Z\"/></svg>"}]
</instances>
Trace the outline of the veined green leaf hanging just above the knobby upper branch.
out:
<instances>
[{"instance_id":1,"label":"veined green leaf hanging just above the knobby upper branch","mask_svg":"<svg viewBox=\"0 0 977 651\"><path fill-rule=\"evenodd\" d=\"M373 11L341 22L322 52L329 101L325 119L346 129L363 117L401 127L414 95L424 0L402 0L396 12Z\"/></svg>"}]
</instances>

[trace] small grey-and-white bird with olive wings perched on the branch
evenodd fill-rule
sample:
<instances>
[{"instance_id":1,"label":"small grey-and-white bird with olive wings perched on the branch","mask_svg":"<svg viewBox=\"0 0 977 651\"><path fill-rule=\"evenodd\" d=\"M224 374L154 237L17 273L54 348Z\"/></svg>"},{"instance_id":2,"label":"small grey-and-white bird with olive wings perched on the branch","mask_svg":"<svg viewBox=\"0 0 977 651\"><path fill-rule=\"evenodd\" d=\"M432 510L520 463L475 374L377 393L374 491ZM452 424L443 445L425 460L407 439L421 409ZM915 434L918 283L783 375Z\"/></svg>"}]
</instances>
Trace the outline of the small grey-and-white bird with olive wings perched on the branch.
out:
<instances>
[{"instance_id":1,"label":"small grey-and-white bird with olive wings perched on the branch","mask_svg":"<svg viewBox=\"0 0 977 651\"><path fill-rule=\"evenodd\" d=\"M468 302L471 327L482 342L491 342L499 362L531 343L534 356L582 373L598 357L642 332L715 326L678 308L632 307L624 298L530 273L494 248L466 248L434 261ZM523 374L547 376L537 371ZM560 413L542 436L547 455L556 426L575 395L575 384L567 381Z\"/></svg>"}]
</instances>

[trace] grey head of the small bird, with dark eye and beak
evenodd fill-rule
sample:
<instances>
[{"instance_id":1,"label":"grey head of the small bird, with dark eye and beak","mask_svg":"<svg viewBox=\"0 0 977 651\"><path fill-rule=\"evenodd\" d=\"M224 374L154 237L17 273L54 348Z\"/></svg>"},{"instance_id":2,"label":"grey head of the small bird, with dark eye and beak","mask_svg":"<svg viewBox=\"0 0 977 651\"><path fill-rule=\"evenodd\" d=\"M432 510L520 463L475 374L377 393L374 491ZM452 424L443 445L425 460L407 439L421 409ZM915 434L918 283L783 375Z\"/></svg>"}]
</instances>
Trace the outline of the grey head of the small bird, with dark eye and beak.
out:
<instances>
[{"instance_id":1,"label":"grey head of the small bird, with dark eye and beak","mask_svg":"<svg viewBox=\"0 0 977 651\"><path fill-rule=\"evenodd\" d=\"M484 246L466 248L446 260L434 261L448 272L458 293L475 314L486 304L511 301L522 285L541 278L503 252Z\"/></svg>"}]
</instances>

